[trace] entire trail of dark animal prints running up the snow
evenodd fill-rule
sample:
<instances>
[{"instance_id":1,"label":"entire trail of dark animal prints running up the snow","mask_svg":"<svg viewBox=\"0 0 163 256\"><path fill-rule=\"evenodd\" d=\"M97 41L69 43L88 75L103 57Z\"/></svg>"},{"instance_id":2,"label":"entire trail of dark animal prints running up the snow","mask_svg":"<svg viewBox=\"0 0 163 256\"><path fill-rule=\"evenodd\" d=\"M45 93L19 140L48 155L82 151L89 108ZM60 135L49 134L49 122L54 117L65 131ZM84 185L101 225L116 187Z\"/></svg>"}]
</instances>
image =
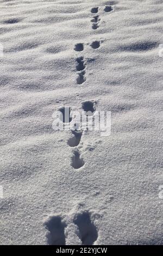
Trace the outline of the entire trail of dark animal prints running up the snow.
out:
<instances>
[{"instance_id":1,"label":"entire trail of dark animal prints running up the snow","mask_svg":"<svg viewBox=\"0 0 163 256\"><path fill-rule=\"evenodd\" d=\"M114 4L115 1L111 1L109 3ZM104 11L106 11L106 12L112 11L111 6L110 5L105 6ZM91 13L92 14L98 13L98 7L92 8ZM99 15L96 15L93 17L93 19L91 20L92 29L97 29L99 27L98 22L100 20L101 19L99 19ZM8 21L8 23L16 23L16 22ZM101 45L101 41L98 41L98 40L93 41L91 43L91 47L93 49L99 48L100 45ZM151 47L151 45L150 45L150 47ZM133 45L130 48L137 49L137 45ZM143 48L143 50L147 50L149 48L149 46L145 45L141 48ZM84 44L82 44L82 43L76 44L74 46L74 51L82 52L83 50L84 50ZM49 52L53 53L53 49L52 49L52 51L49 50ZM82 84L86 81L86 78L85 78L86 64L84 61L84 57L82 57L82 56L78 57L76 59L76 62L77 62L76 70L78 71L77 83ZM86 112L85 114L87 115L87 119L89 119L88 116L91 116L95 113L95 111L96 111L95 103L96 102L93 102L93 101L85 101L82 103L82 107L83 107L84 111ZM72 118L70 117L70 113L71 113L70 107L61 107L59 109L59 111L60 111L60 120L63 123L70 123L72 121ZM72 131L72 135L73 135L73 137L68 139L67 144L70 147L77 147L82 138L82 131L74 130L74 131ZM89 148L90 151L92 151L94 149L95 149L95 147ZM80 156L79 150L77 148L74 149L73 155L71 157L71 166L74 169L79 169L79 168L82 168L84 166L84 164L85 164L85 162L84 162L83 158ZM91 220L90 212L85 211L80 214L76 214L76 216L73 218L73 222L78 227L78 231L79 231L78 236L79 236L79 239L82 241L82 245L93 245L95 243L95 241L97 240L98 233L97 233L95 224ZM45 225L46 225L46 229L48 230L48 234L47 234L48 245L66 245L65 228L68 227L68 224L63 222L62 218L60 216L50 217L49 220L47 222L45 222Z\"/></svg>"}]
</instances>

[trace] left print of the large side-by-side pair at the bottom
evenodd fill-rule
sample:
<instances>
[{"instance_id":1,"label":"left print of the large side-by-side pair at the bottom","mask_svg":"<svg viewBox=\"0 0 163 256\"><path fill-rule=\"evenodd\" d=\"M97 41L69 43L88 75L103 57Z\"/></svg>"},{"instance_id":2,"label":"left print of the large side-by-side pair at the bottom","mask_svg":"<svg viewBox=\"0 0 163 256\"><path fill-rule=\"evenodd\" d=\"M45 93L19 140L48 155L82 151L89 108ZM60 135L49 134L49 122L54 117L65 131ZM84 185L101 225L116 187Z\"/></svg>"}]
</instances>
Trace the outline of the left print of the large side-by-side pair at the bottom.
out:
<instances>
[{"instance_id":1,"label":"left print of the large side-by-side pair at the bottom","mask_svg":"<svg viewBox=\"0 0 163 256\"><path fill-rule=\"evenodd\" d=\"M64 229L65 223L62 223L60 216L51 217L46 223L49 230L47 235L48 245L66 245Z\"/></svg>"}]
</instances>

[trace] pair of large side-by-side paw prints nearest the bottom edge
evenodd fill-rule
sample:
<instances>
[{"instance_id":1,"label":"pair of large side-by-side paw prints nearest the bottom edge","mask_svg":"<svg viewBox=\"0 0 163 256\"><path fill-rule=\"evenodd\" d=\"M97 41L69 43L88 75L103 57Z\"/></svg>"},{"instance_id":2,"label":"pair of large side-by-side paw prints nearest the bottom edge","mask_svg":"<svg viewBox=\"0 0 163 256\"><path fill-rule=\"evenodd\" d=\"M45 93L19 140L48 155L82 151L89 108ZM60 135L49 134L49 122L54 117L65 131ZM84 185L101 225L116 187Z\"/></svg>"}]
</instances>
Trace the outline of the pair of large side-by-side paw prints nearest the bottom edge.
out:
<instances>
[{"instance_id":1,"label":"pair of large side-by-side paw prints nearest the bottom edge","mask_svg":"<svg viewBox=\"0 0 163 256\"><path fill-rule=\"evenodd\" d=\"M71 225L75 225L76 228L72 229ZM73 236L73 238L77 236L82 245L93 245L98 237L97 228L89 211L76 214L71 223L64 220L62 216L51 216L45 222L45 227L48 230L46 235L48 245L66 245L68 236Z\"/></svg>"}]
</instances>

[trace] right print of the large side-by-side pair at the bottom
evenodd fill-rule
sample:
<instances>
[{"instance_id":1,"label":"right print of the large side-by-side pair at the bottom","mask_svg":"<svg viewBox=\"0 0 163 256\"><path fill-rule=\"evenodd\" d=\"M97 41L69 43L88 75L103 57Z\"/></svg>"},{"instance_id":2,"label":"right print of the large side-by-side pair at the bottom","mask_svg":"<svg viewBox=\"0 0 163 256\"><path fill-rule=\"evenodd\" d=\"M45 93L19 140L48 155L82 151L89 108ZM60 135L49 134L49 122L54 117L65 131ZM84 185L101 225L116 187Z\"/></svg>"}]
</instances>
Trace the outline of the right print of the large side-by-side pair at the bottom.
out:
<instances>
[{"instance_id":1,"label":"right print of the large side-by-side pair at the bottom","mask_svg":"<svg viewBox=\"0 0 163 256\"><path fill-rule=\"evenodd\" d=\"M77 215L74 224L79 228L79 238L82 240L82 245L93 245L97 240L98 233L95 225L91 222L89 212Z\"/></svg>"}]
</instances>

